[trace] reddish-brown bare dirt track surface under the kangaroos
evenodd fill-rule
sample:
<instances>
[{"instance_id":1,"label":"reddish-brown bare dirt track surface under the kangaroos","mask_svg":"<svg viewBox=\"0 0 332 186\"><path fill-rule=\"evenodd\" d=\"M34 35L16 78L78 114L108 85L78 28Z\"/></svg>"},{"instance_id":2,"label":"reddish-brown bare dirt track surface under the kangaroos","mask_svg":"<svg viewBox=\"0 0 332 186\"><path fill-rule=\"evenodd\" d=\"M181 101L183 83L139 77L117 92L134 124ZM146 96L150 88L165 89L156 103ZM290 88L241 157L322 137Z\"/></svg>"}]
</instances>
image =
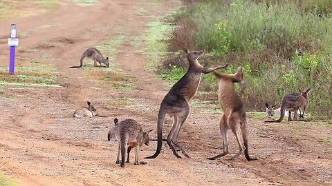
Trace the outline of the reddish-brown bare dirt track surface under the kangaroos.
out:
<instances>
[{"instance_id":1,"label":"reddish-brown bare dirt track surface under the kangaroos","mask_svg":"<svg viewBox=\"0 0 332 186\"><path fill-rule=\"evenodd\" d=\"M135 43L142 41L123 42L114 56L124 73L137 80L134 89L105 88L107 82L95 83L84 70L68 67L79 63L87 47L119 33L144 35L147 23L180 5L166 0L104 0L85 7L66 1L54 12L1 23L0 30L16 23L19 32L55 25L20 37L17 61L38 60L47 52L62 87L0 86L6 92L0 99L0 174L19 185L332 185L331 126L266 124L248 114L249 152L259 160L248 162L240 156L228 161L238 150L230 134L230 155L209 161L208 156L222 151L220 114L204 113L203 107L192 107L181 131L180 142L191 158L176 158L164 143L160 156L147 160L147 165L131 162L121 168L115 163L117 143L107 141L113 118L135 118L146 130L156 130L158 107L169 87L146 70L147 56L139 47L145 43ZM7 37L0 33L1 39ZM0 44L6 48L5 42ZM34 49L38 50L30 52ZM8 60L8 51L2 54L1 66L6 66L2 61ZM133 101L130 107L117 105L123 98ZM86 101L107 117L71 117ZM171 123L167 118L164 134ZM156 143L141 149L140 158L150 156Z\"/></svg>"}]
</instances>

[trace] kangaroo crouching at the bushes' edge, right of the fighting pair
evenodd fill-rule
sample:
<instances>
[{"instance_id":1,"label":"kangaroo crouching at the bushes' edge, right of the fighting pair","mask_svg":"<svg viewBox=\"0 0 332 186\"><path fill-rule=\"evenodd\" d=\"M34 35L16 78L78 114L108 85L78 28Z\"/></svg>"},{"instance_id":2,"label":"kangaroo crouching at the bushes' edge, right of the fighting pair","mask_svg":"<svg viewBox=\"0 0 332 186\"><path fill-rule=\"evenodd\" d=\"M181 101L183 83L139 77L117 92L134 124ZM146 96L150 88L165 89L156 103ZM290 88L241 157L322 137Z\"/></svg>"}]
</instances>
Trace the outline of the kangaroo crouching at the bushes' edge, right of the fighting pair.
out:
<instances>
[{"instance_id":1,"label":"kangaroo crouching at the bushes' edge, right of the fighting pair","mask_svg":"<svg viewBox=\"0 0 332 186\"><path fill-rule=\"evenodd\" d=\"M282 107L280 107L280 118L277 120L265 121L268 123L279 123L284 119L285 112L288 110L288 121L292 121L292 112L297 113L299 110L299 118L304 118L304 112L306 111L306 107L308 107L309 98L308 93L310 89L302 92L287 94L282 99ZM303 108L303 113L301 113L301 108ZM294 121L297 121L297 114L294 114Z\"/></svg>"}]
</instances>

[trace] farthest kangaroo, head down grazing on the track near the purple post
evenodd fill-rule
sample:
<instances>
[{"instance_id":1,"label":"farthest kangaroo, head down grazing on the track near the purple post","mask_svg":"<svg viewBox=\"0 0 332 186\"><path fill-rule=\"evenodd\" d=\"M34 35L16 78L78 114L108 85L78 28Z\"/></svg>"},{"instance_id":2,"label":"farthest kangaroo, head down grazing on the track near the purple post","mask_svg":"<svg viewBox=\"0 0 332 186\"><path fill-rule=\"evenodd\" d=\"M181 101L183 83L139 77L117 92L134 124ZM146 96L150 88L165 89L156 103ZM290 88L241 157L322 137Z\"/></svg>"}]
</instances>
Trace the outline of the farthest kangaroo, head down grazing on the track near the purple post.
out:
<instances>
[{"instance_id":1,"label":"farthest kangaroo, head down grazing on the track near the purple post","mask_svg":"<svg viewBox=\"0 0 332 186\"><path fill-rule=\"evenodd\" d=\"M86 57L89 59L93 59L93 65L95 67L98 66L97 62L100 64L100 67L102 67L102 63L104 63L104 65L106 65L107 68L109 67L109 57L108 56L105 59L104 56L102 56L102 53L100 53L100 51L97 48L88 48L85 50L85 52L81 56L80 66L73 66L70 68L82 68L83 60Z\"/></svg>"}]
</instances>

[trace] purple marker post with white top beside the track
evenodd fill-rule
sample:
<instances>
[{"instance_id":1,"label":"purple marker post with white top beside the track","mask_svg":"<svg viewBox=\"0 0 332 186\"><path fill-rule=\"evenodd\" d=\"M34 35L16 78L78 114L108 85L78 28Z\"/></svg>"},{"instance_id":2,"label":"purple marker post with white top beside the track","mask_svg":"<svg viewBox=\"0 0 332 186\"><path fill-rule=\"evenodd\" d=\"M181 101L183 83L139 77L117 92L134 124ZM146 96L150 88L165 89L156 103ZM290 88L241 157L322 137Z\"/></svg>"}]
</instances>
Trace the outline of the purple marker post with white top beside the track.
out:
<instances>
[{"instance_id":1,"label":"purple marker post with white top beside the track","mask_svg":"<svg viewBox=\"0 0 332 186\"><path fill-rule=\"evenodd\" d=\"M8 45L10 46L10 57L9 57L9 74L14 74L15 71L15 48L19 45L19 39L16 38L15 24L12 24L10 31L10 38L8 39Z\"/></svg>"}]
</instances>

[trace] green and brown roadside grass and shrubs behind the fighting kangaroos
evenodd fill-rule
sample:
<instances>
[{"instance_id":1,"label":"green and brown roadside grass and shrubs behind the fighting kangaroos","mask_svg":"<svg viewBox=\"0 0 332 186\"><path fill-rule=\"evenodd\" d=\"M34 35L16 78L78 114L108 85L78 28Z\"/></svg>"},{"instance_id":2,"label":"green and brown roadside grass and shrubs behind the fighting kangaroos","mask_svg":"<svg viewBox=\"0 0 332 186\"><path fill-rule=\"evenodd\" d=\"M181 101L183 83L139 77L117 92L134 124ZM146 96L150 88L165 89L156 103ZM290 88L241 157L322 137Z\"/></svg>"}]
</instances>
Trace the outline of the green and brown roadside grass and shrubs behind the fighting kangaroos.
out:
<instances>
[{"instance_id":1,"label":"green and brown roadside grass and shrubs behind the fighting kangaroos","mask_svg":"<svg viewBox=\"0 0 332 186\"><path fill-rule=\"evenodd\" d=\"M164 79L178 79L187 68L181 50L204 50L203 65L242 65L247 83L241 94L247 110L281 103L299 88L311 88L308 112L332 118L332 1L187 1L173 15L176 26L167 41L173 52L159 66ZM301 48L303 54L297 54ZM200 90L216 92L212 74Z\"/></svg>"}]
</instances>

